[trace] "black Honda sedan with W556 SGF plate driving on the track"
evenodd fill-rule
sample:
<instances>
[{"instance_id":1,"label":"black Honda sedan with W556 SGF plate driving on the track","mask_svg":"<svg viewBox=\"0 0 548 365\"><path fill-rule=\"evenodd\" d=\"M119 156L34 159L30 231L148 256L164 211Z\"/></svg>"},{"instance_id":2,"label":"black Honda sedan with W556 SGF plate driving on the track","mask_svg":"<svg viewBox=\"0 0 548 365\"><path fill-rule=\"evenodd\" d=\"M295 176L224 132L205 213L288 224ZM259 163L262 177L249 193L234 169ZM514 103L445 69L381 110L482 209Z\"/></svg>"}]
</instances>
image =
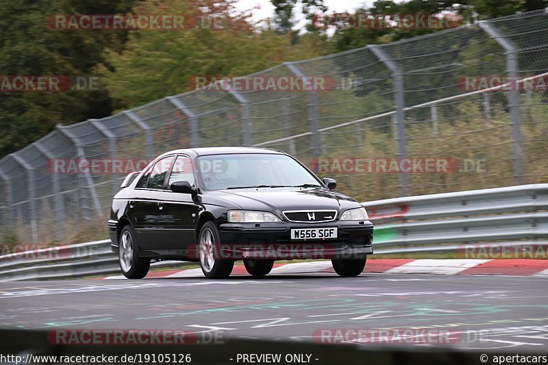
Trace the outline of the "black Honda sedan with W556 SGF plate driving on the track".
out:
<instances>
[{"instance_id":1,"label":"black Honda sedan with W556 SGF plate driving on the track","mask_svg":"<svg viewBox=\"0 0 548 365\"><path fill-rule=\"evenodd\" d=\"M355 276L373 254L365 208L277 150L173 150L121 187L108 227L126 278L158 260L199 261L206 278L227 278L235 260L262 276L275 260L308 258Z\"/></svg>"}]
</instances>

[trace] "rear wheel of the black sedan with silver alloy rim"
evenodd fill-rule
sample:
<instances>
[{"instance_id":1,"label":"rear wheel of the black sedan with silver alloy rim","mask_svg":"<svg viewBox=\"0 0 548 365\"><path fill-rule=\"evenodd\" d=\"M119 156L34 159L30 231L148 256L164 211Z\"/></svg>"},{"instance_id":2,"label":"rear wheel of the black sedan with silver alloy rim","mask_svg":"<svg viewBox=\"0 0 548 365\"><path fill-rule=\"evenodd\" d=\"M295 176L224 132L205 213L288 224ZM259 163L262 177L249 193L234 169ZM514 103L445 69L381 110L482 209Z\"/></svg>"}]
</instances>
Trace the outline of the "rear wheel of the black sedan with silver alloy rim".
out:
<instances>
[{"instance_id":1,"label":"rear wheel of the black sedan with silver alloy rim","mask_svg":"<svg viewBox=\"0 0 548 365\"><path fill-rule=\"evenodd\" d=\"M125 226L118 239L118 262L128 279L142 279L150 269L150 258L139 257L139 245L132 226Z\"/></svg>"}]
</instances>

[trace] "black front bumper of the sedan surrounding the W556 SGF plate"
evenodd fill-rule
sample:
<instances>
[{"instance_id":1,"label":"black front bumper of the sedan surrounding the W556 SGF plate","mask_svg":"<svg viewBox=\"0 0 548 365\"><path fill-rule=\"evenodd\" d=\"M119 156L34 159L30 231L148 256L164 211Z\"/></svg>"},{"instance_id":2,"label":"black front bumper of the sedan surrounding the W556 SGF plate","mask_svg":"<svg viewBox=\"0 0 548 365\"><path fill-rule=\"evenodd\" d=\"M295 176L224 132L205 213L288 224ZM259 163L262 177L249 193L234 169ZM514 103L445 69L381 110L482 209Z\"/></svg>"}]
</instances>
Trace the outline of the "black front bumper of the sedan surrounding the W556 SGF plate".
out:
<instances>
[{"instance_id":1,"label":"black front bumper of the sedan surrounding the W556 SGF plate","mask_svg":"<svg viewBox=\"0 0 548 365\"><path fill-rule=\"evenodd\" d=\"M292 240L290 231L293 228L337 228L337 238ZM219 230L221 242L217 254L225 259L365 258L373 254L373 224L370 221L225 223L219 225Z\"/></svg>"}]
</instances>

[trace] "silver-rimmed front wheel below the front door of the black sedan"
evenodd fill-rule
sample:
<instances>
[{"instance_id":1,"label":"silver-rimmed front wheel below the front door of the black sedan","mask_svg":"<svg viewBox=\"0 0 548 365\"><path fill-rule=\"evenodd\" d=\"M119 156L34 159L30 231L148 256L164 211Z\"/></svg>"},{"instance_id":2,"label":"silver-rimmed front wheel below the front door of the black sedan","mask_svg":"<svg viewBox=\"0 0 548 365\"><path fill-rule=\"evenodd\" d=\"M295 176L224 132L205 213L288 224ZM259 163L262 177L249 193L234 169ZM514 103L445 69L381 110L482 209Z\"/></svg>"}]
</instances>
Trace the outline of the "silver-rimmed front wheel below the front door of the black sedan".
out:
<instances>
[{"instance_id":1,"label":"silver-rimmed front wheel below the front door of the black sedan","mask_svg":"<svg viewBox=\"0 0 548 365\"><path fill-rule=\"evenodd\" d=\"M234 260L219 260L216 252L221 241L219 228L211 221L207 221L200 230L198 239L200 252L200 267L203 275L208 279L225 279L232 273Z\"/></svg>"}]
</instances>

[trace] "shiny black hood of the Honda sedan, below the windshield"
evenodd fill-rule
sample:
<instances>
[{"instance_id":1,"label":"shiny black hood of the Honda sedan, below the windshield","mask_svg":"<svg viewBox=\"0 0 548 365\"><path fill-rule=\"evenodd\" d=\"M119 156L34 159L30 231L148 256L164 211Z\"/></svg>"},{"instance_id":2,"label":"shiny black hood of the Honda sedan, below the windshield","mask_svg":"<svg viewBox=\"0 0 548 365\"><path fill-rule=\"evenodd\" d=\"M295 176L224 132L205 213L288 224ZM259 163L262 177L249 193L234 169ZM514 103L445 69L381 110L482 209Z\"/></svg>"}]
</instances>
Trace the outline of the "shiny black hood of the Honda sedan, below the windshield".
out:
<instances>
[{"instance_id":1,"label":"shiny black hood of the Honda sedan, below the windshield","mask_svg":"<svg viewBox=\"0 0 548 365\"><path fill-rule=\"evenodd\" d=\"M346 210L360 206L356 200L327 189L259 188L210 191L210 193L216 198L252 211L277 213L305 209L340 211L341 208Z\"/></svg>"}]
</instances>

